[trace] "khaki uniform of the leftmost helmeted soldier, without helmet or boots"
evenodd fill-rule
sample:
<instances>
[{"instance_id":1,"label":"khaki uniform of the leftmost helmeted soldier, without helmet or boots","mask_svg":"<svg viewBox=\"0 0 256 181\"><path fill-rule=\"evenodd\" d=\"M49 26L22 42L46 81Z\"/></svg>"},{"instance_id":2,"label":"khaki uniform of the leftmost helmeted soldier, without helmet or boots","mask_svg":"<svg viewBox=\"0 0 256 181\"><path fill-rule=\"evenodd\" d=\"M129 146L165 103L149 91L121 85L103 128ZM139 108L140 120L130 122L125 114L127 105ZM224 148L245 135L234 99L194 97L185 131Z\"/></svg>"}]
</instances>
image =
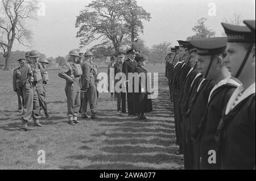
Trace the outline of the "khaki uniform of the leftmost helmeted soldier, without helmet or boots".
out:
<instances>
[{"instance_id":1,"label":"khaki uniform of the leftmost helmeted soldier, without helmet or boots","mask_svg":"<svg viewBox=\"0 0 256 181\"><path fill-rule=\"evenodd\" d=\"M22 113L22 120L24 121L30 121L31 118L34 121L40 119L38 93L36 92L38 82L31 81L35 69L38 69L36 64L24 64L20 75L19 87L22 89L24 98Z\"/></svg>"}]
</instances>

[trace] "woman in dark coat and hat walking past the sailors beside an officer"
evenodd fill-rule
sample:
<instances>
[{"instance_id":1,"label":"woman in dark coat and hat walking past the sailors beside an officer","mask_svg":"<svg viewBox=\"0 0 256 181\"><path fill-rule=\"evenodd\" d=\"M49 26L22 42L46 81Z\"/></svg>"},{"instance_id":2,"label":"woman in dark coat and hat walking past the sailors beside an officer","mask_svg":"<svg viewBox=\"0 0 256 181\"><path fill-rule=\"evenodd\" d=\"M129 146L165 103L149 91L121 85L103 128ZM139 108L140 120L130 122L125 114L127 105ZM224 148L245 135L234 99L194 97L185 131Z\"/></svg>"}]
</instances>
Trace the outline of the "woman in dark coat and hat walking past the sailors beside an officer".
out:
<instances>
[{"instance_id":1,"label":"woman in dark coat and hat walking past the sailors beside an officer","mask_svg":"<svg viewBox=\"0 0 256 181\"><path fill-rule=\"evenodd\" d=\"M146 58L144 56L139 55L136 57L136 61L138 62L137 67L134 70L134 73L144 74L146 81L142 81L143 79L139 77L139 92L134 92L133 95L133 112L138 114L138 118L141 120L147 120L144 113L152 111L152 102L151 99L148 99L147 96L150 94L147 90L147 70L144 68L146 64ZM135 83L135 81L133 81Z\"/></svg>"}]
</instances>

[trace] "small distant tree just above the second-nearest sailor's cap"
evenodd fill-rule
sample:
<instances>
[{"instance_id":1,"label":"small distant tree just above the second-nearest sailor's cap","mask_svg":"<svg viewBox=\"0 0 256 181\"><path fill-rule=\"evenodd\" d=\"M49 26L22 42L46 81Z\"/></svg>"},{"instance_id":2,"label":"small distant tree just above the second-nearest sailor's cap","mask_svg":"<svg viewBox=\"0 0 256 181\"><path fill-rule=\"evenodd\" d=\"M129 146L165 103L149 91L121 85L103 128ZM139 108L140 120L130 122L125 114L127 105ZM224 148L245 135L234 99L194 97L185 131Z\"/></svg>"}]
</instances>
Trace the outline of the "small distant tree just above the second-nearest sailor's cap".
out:
<instances>
[{"instance_id":1,"label":"small distant tree just above the second-nearest sailor's cap","mask_svg":"<svg viewBox=\"0 0 256 181\"><path fill-rule=\"evenodd\" d=\"M204 39L208 37L214 37L216 32L212 31L208 27L205 26L205 22L207 18L200 18L197 20L197 24L192 28L192 31L196 33L196 35L189 36L187 40L194 40L194 39Z\"/></svg>"}]
</instances>

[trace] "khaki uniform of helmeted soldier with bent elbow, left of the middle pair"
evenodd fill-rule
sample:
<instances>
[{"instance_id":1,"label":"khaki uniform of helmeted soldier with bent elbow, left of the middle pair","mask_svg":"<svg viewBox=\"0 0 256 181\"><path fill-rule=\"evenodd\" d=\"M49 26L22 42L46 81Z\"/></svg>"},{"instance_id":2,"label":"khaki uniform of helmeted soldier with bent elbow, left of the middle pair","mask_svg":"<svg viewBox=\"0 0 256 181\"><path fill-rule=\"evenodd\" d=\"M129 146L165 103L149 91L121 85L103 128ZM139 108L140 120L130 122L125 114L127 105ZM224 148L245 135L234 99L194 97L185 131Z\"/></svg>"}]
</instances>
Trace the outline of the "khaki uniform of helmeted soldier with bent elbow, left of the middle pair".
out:
<instances>
[{"instance_id":1,"label":"khaki uniform of helmeted soldier with bent elbow, left of the middle pair","mask_svg":"<svg viewBox=\"0 0 256 181\"><path fill-rule=\"evenodd\" d=\"M65 94L67 96L68 117L77 117L80 107L80 75L74 74L74 66L75 63L68 60L59 73L59 77L66 80Z\"/></svg>"}]
</instances>

